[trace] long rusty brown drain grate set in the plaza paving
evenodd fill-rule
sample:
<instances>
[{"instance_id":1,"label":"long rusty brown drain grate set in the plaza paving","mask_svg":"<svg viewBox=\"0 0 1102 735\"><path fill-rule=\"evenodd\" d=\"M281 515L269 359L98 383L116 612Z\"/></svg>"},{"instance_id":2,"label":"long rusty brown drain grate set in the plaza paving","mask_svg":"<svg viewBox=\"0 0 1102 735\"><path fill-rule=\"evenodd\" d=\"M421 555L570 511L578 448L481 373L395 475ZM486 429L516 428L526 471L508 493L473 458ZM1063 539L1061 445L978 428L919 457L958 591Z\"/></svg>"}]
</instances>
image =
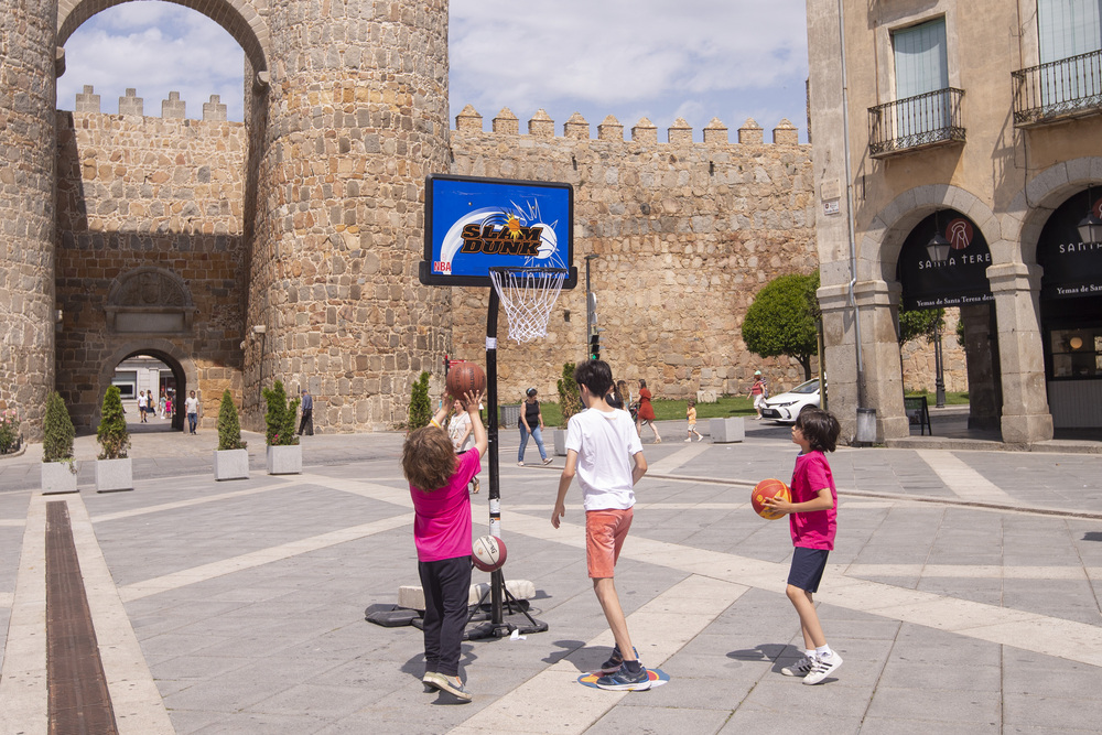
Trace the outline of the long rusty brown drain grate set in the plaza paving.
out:
<instances>
[{"instance_id":1,"label":"long rusty brown drain grate set in the plaza paving","mask_svg":"<svg viewBox=\"0 0 1102 735\"><path fill-rule=\"evenodd\" d=\"M46 504L46 687L50 735L118 733L68 505L61 500Z\"/></svg>"}]
</instances>

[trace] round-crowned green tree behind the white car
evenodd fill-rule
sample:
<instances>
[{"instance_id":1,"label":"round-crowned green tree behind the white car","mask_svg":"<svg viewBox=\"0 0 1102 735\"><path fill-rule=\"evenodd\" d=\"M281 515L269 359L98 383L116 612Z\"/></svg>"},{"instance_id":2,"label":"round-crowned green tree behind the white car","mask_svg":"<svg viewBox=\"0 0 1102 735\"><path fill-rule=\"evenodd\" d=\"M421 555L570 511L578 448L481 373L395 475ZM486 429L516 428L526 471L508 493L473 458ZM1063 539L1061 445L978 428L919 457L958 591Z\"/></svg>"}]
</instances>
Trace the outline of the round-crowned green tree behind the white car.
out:
<instances>
[{"instance_id":1,"label":"round-crowned green tree behind the white car","mask_svg":"<svg viewBox=\"0 0 1102 735\"><path fill-rule=\"evenodd\" d=\"M743 320L746 348L761 357L787 355L803 367L811 379L811 356L818 349L819 271L810 275L780 275L758 291Z\"/></svg>"}]
</instances>

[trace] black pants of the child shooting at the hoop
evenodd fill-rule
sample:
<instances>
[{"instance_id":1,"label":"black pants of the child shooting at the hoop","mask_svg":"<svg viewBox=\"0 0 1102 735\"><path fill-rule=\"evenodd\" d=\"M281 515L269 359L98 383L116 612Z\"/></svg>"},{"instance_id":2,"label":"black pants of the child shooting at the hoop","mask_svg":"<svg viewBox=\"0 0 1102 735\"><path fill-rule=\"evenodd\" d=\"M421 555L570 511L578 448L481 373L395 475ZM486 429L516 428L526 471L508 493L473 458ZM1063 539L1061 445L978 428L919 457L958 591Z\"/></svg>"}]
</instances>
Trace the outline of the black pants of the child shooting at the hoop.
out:
<instances>
[{"instance_id":1,"label":"black pants of the child shooting at the hoop","mask_svg":"<svg viewBox=\"0 0 1102 735\"><path fill-rule=\"evenodd\" d=\"M417 568L424 590L424 670L457 677L471 595L471 556L418 562Z\"/></svg>"}]
</instances>

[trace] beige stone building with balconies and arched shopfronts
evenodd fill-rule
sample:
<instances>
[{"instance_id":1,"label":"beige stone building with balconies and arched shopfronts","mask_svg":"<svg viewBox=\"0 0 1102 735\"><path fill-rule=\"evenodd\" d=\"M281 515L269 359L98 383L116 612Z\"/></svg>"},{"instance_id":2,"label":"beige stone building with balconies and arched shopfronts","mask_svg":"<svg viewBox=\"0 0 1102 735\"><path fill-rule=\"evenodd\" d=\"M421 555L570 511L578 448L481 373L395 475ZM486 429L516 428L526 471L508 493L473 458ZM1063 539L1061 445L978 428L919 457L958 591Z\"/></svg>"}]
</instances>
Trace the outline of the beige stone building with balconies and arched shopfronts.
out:
<instances>
[{"instance_id":1,"label":"beige stone building with balconies and arched shopfronts","mask_svg":"<svg viewBox=\"0 0 1102 735\"><path fill-rule=\"evenodd\" d=\"M819 296L845 433L872 409L869 439L907 435L896 318L923 281L960 305L973 425L1016 445L1102 426L1092 6L808 2Z\"/></svg>"}]
</instances>

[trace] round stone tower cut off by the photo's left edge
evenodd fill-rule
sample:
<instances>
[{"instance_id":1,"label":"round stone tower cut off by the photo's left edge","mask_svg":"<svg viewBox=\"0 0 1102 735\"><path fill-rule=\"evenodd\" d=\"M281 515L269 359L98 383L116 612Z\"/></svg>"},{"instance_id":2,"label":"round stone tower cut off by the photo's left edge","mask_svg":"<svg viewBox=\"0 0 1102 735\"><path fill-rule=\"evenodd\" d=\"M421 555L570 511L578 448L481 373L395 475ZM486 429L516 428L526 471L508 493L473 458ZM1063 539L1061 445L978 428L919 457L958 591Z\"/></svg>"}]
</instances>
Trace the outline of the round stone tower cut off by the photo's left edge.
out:
<instances>
[{"instance_id":1,"label":"round stone tower cut off by the photo's left edge","mask_svg":"<svg viewBox=\"0 0 1102 735\"><path fill-rule=\"evenodd\" d=\"M54 387L57 0L0 3L0 409L42 435Z\"/></svg>"}]
</instances>

